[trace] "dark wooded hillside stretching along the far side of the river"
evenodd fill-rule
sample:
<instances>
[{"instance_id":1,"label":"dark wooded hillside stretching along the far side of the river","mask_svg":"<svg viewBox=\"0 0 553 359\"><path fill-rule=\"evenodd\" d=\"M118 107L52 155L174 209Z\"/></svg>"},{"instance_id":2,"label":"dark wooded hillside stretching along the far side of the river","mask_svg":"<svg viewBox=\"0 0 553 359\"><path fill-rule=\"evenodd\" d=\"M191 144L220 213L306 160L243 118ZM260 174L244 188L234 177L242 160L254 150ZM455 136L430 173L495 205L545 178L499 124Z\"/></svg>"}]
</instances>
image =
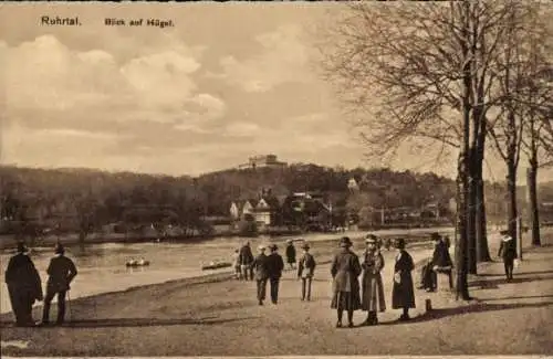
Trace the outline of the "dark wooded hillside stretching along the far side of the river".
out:
<instances>
[{"instance_id":1,"label":"dark wooded hillside stretching along the far side of the river","mask_svg":"<svg viewBox=\"0 0 553 359\"><path fill-rule=\"evenodd\" d=\"M352 179L356 189L348 187ZM202 232L209 231L202 218L228 217L231 202L258 198L263 189L271 189L276 198L293 192L321 193L335 213L343 213L344 222L352 214L359 222L368 217L374 221L375 211L383 208L421 210L431 203L447 217L455 198L451 179L387 168L348 170L296 163L282 169L230 169L192 178L2 166L0 213L4 231L20 233L23 228L32 231L29 228L44 226L86 236L112 223L123 223L127 229L148 223L178 224ZM523 203L524 191L519 193ZM504 218L504 186L487 183L489 218ZM540 198L553 201L553 183L540 188Z\"/></svg>"}]
</instances>

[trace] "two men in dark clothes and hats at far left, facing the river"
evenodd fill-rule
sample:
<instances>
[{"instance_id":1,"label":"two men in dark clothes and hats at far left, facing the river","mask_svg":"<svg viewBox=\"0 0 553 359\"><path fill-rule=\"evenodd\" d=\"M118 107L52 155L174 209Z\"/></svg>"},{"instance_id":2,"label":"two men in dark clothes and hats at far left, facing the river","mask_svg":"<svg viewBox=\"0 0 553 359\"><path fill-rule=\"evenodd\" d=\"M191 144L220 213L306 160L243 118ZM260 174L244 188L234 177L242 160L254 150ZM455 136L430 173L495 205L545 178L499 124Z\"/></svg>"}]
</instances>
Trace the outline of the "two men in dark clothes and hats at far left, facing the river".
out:
<instances>
[{"instance_id":1,"label":"two men in dark clothes and hats at far left, facing the river","mask_svg":"<svg viewBox=\"0 0 553 359\"><path fill-rule=\"evenodd\" d=\"M18 243L17 254L8 262L6 284L10 295L11 307L15 314L15 325L19 327L45 326L50 324L50 306L58 295L58 318L55 324L62 325L65 318L65 297L70 284L77 271L73 261L66 257L65 249L58 243L54 247L54 257L50 260L46 274L45 296L42 295L42 284L39 272L29 256L23 243ZM32 306L35 302L44 300L42 321L36 324L32 317Z\"/></svg>"}]
</instances>

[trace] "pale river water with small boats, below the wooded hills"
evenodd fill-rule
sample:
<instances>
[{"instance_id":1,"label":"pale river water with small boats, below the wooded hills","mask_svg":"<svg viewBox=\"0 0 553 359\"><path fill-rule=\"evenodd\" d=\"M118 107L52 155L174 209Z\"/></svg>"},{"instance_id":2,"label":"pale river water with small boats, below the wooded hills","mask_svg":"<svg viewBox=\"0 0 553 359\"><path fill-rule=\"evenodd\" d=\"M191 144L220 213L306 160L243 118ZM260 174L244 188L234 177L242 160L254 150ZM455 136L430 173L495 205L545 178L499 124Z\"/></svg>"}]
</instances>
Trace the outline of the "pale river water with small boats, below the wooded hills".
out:
<instances>
[{"instance_id":1,"label":"pale river water with small boats, below the wooded hills","mask_svg":"<svg viewBox=\"0 0 553 359\"><path fill-rule=\"evenodd\" d=\"M406 235L439 230L451 232L451 229L421 229L421 230L383 230L373 232L376 235ZM346 232L352 239L361 237L363 232ZM313 243L313 254L316 256L316 242L328 241L344 235L343 233L309 234L303 236ZM201 266L211 261L232 262L233 252L246 241L250 241L255 253L255 247L263 243L276 243L280 249L290 239L280 236L271 239L259 236L255 239L243 237L219 237L200 243L102 243L88 244L84 252L79 246L67 247L66 255L71 257L79 270L71 289L71 298L90 296L101 293L124 291L129 287L163 283L187 277L201 276L218 272L229 272L229 268L216 271L201 271ZM281 254L283 251L281 251ZM11 312L8 297L8 288L3 283L3 276L8 261L13 251L0 253L0 313ZM46 281L46 267L52 256L52 249L36 247L30 253L34 265L43 281ZM131 258L144 257L150 262L147 267L127 268L125 263ZM35 305L41 305L38 303Z\"/></svg>"}]
</instances>

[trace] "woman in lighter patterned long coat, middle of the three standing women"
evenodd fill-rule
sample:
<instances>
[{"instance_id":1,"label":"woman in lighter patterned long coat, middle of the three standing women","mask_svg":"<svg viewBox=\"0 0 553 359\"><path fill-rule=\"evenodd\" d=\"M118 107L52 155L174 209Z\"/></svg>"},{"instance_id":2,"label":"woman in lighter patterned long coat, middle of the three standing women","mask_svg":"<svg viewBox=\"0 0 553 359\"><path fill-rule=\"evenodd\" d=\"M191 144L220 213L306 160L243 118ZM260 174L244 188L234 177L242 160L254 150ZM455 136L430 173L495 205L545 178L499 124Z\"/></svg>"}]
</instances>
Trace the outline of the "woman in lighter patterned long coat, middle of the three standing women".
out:
<instances>
[{"instance_id":1,"label":"woman in lighter patterned long coat, middle of the three standing women","mask_svg":"<svg viewBox=\"0 0 553 359\"><path fill-rule=\"evenodd\" d=\"M368 312L365 325L378 324L377 312L386 310L386 302L384 298L384 285L382 282L380 271L384 268L384 256L377 249L377 239L369 234L365 240L367 250L362 264L362 303L363 310Z\"/></svg>"}]
</instances>

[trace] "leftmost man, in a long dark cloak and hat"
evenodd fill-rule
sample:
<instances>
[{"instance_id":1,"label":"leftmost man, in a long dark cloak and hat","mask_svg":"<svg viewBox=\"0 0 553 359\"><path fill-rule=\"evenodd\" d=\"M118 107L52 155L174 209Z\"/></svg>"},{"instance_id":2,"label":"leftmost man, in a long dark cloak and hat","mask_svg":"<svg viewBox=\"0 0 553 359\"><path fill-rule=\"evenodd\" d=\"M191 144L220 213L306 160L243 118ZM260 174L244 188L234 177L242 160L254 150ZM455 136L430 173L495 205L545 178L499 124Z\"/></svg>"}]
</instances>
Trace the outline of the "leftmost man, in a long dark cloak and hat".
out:
<instances>
[{"instance_id":1,"label":"leftmost man, in a long dark cloak and hat","mask_svg":"<svg viewBox=\"0 0 553 359\"><path fill-rule=\"evenodd\" d=\"M6 284L18 327L34 327L32 306L42 300L42 284L27 247L18 243L18 253L8 262Z\"/></svg>"}]
</instances>

